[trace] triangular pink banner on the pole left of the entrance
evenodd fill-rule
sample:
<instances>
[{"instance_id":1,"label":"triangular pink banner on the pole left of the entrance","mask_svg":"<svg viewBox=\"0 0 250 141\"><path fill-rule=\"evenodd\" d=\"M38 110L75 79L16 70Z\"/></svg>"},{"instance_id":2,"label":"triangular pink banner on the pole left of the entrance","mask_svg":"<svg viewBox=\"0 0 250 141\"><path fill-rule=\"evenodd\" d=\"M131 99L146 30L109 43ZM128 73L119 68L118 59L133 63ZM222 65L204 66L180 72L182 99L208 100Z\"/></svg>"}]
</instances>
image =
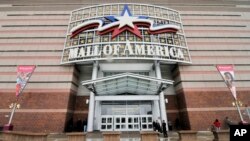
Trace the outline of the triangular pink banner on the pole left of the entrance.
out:
<instances>
[{"instance_id":1,"label":"triangular pink banner on the pole left of the entrance","mask_svg":"<svg viewBox=\"0 0 250 141\"><path fill-rule=\"evenodd\" d=\"M36 66L18 66L16 79L16 96L18 97L27 85Z\"/></svg>"}]
</instances>

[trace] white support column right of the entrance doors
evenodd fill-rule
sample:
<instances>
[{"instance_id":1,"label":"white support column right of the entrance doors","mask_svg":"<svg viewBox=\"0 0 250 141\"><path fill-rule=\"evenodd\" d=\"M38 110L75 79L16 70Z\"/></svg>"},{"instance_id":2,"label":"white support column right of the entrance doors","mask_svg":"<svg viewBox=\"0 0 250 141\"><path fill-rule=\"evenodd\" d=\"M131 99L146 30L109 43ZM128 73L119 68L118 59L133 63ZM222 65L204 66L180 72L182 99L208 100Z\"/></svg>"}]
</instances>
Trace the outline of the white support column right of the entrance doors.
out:
<instances>
[{"instance_id":1,"label":"white support column right of the entrance doors","mask_svg":"<svg viewBox=\"0 0 250 141\"><path fill-rule=\"evenodd\" d=\"M160 62L159 61L155 61L155 73L156 73L156 78L158 79L162 79L161 77L161 66L160 66ZM161 113L161 122L163 120L165 120L166 124L167 124L167 130L168 130L168 120L167 120L167 113L166 113L166 105L165 105L165 97L164 97L164 93L161 92L159 94L159 102L160 102L160 113Z\"/></svg>"}]
</instances>

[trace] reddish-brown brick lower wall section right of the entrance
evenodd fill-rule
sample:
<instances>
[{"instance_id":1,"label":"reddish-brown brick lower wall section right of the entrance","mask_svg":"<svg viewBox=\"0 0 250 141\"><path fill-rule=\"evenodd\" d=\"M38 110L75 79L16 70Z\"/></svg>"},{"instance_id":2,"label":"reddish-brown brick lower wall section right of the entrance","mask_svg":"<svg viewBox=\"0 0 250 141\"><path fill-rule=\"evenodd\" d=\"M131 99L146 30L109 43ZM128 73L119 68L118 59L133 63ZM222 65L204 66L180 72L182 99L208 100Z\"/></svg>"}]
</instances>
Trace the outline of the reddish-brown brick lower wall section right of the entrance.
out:
<instances>
[{"instance_id":1,"label":"reddish-brown brick lower wall section right of the entrance","mask_svg":"<svg viewBox=\"0 0 250 141\"><path fill-rule=\"evenodd\" d=\"M248 104L250 97L247 91L238 91L238 100ZM183 121L188 120L191 130L207 130L214 122L219 119L222 129L225 129L224 119L229 117L234 123L240 121L236 107L232 105L233 98L229 91L187 91L184 93L187 108L181 109L182 115L186 115ZM245 107L241 107L244 113ZM243 118L249 121L249 117L243 114ZM186 128L186 127L184 127Z\"/></svg>"}]
</instances>

